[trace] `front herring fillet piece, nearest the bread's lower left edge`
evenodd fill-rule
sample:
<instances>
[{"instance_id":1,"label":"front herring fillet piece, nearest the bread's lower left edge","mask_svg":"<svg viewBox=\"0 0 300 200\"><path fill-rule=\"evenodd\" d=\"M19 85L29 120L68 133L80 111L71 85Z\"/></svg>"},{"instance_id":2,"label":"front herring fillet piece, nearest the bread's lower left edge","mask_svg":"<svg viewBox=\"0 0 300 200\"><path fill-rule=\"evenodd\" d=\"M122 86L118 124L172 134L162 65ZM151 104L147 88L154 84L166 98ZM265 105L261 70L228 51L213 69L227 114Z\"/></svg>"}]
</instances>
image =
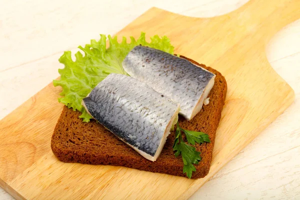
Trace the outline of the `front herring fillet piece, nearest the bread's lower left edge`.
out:
<instances>
[{"instance_id":1,"label":"front herring fillet piece, nearest the bread's lower left edge","mask_svg":"<svg viewBox=\"0 0 300 200\"><path fill-rule=\"evenodd\" d=\"M139 80L109 74L82 100L86 111L143 157L155 161L179 103Z\"/></svg>"}]
</instances>

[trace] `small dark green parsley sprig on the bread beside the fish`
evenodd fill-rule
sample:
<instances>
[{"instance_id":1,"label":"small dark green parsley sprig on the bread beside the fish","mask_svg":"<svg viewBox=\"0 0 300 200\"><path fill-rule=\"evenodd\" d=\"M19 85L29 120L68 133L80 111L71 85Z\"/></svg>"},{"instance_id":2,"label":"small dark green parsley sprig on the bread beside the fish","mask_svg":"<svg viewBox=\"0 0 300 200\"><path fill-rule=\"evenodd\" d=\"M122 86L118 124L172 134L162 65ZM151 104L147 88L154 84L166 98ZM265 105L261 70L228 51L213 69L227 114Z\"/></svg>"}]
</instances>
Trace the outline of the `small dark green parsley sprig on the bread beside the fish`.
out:
<instances>
[{"instance_id":1,"label":"small dark green parsley sprig on the bread beside the fish","mask_svg":"<svg viewBox=\"0 0 300 200\"><path fill-rule=\"evenodd\" d=\"M181 135L181 131L185 134L188 144L186 144ZM176 132L175 132L175 140L173 144L173 150L175 152L175 156L181 154L183 160L183 173L186 173L188 178L191 177L193 171L196 171L196 168L193 164L198 164L201 160L200 152L196 151L194 146L195 143L204 143L210 142L210 139L207 134L204 132L197 132L192 130L185 130L181 128L177 122Z\"/></svg>"}]
</instances>

